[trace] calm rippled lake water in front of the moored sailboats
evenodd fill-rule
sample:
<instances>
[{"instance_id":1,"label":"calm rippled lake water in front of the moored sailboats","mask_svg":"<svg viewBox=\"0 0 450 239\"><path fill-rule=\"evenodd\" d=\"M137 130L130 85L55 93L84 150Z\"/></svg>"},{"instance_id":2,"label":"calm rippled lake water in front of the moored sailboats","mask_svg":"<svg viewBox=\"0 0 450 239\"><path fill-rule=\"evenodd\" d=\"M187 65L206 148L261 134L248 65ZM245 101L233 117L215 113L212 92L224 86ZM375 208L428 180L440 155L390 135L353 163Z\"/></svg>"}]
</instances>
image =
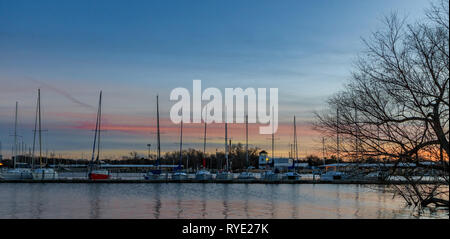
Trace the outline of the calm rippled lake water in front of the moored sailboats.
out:
<instances>
[{"instance_id":1,"label":"calm rippled lake water in front of the moored sailboats","mask_svg":"<svg viewBox=\"0 0 450 239\"><path fill-rule=\"evenodd\" d=\"M0 183L0 218L417 217L375 185Z\"/></svg>"}]
</instances>

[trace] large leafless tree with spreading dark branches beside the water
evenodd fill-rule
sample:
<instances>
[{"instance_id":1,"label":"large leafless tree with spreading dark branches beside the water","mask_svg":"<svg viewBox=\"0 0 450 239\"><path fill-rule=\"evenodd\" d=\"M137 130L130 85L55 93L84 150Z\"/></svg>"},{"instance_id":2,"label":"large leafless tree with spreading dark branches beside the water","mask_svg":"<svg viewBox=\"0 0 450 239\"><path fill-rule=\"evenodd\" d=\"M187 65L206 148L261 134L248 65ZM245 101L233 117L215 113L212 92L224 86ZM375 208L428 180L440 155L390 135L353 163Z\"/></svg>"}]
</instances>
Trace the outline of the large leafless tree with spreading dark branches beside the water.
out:
<instances>
[{"instance_id":1,"label":"large leafless tree with spreading dark branches beside the water","mask_svg":"<svg viewBox=\"0 0 450 239\"><path fill-rule=\"evenodd\" d=\"M424 159L439 159L434 171L440 172L437 181L446 192L441 183L419 187L421 179L404 170L410 183L396 187L410 204L448 206L448 2L432 4L426 15L407 24L392 14L384 29L363 40L365 51L350 82L329 99L329 111L317 114L316 128L330 135L339 132L347 155L414 162L422 168Z\"/></svg>"}]
</instances>

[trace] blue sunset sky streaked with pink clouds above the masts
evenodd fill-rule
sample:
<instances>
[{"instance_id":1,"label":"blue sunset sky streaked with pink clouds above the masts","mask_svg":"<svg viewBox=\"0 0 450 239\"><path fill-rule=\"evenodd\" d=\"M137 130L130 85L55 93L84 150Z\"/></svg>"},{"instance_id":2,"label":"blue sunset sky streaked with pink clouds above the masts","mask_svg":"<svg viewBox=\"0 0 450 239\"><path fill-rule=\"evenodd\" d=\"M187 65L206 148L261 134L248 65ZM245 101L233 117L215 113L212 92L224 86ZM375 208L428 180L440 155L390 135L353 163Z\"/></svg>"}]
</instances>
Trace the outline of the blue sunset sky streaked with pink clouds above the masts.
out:
<instances>
[{"instance_id":1,"label":"blue sunset sky streaked with pink clouds above the masts","mask_svg":"<svg viewBox=\"0 0 450 239\"><path fill-rule=\"evenodd\" d=\"M314 112L343 89L361 39L397 12L424 18L427 0L245 1L22 1L0 0L0 141L13 145L15 102L20 142L29 148L37 89L41 89L43 147L89 158L100 90L102 156L146 154L156 145L156 95L160 97L161 148L176 150L179 126L171 123L171 90L278 88L275 156L288 156L297 117L299 155L318 154L321 135ZM192 92L192 91L191 91ZM205 102L206 103L206 102ZM233 143L244 125L230 125ZM250 146L271 150L270 136L249 126ZM203 148L202 126L184 125L184 148ZM207 131L207 151L223 151L222 124Z\"/></svg>"}]
</instances>

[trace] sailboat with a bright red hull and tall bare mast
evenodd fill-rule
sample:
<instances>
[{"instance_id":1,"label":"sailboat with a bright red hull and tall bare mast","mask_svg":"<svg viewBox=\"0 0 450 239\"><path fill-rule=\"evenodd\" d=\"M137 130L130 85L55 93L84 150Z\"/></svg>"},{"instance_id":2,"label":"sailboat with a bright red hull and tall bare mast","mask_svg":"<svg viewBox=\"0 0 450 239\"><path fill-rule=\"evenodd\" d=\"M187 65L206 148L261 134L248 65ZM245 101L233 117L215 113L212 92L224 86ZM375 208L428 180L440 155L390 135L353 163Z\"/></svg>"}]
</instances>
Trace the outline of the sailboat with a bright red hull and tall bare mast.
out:
<instances>
[{"instance_id":1,"label":"sailboat with a bright red hull and tall bare mast","mask_svg":"<svg viewBox=\"0 0 450 239\"><path fill-rule=\"evenodd\" d=\"M92 147L92 158L88 169L88 178L92 180L109 179L110 174L106 169L100 167L100 132L102 123L102 91L98 102L97 120L95 123L94 144ZM95 157L95 147L97 146L97 157Z\"/></svg>"}]
</instances>

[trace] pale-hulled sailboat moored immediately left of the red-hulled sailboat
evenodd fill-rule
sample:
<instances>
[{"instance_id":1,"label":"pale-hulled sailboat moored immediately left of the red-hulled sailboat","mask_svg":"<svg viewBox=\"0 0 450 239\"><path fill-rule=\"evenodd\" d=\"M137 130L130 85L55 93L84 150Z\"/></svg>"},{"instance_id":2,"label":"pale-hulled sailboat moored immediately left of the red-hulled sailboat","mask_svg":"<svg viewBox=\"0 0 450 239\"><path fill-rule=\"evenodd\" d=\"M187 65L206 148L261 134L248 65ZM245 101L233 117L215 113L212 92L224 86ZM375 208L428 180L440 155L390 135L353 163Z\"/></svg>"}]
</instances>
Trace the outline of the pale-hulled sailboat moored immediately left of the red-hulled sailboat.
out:
<instances>
[{"instance_id":1,"label":"pale-hulled sailboat moored immediately left of the red-hulled sailboat","mask_svg":"<svg viewBox=\"0 0 450 239\"><path fill-rule=\"evenodd\" d=\"M37 128L38 127L38 128ZM36 130L37 128L37 130ZM36 142L36 131L39 132L39 168L34 168L34 150ZM41 129L41 89L38 89L38 99L36 107L36 120L34 121L33 155L32 155L32 175L35 180L57 179L58 173L52 168L44 168L42 163L42 129Z\"/></svg>"}]
</instances>

